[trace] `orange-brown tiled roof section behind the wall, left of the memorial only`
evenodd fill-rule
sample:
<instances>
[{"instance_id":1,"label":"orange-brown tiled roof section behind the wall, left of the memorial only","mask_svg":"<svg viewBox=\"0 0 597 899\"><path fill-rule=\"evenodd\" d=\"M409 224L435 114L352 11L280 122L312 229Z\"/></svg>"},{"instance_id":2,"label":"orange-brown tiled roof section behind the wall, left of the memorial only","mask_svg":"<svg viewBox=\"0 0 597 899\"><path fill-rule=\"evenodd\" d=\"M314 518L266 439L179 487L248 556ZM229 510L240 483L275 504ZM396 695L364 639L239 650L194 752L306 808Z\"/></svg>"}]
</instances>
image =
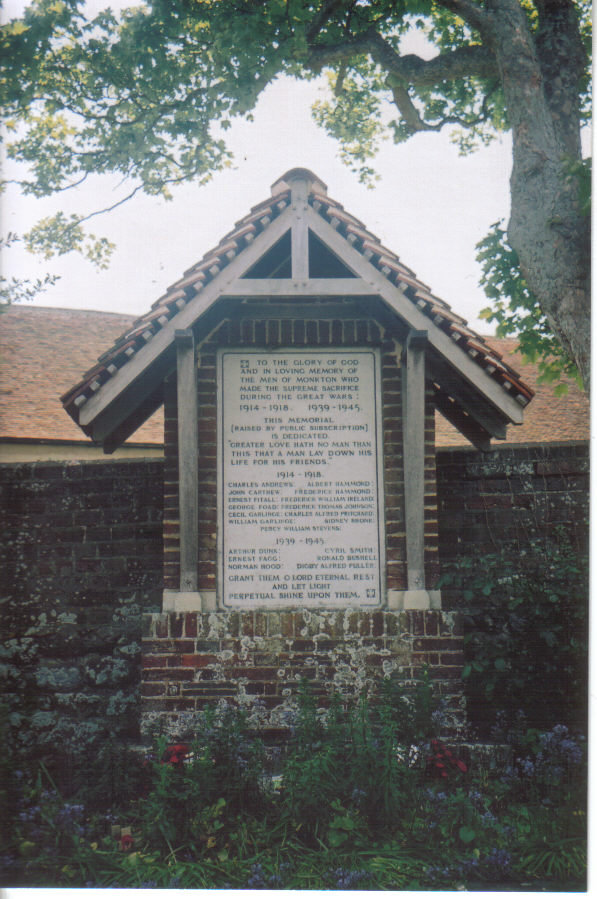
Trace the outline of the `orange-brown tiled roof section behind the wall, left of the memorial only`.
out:
<instances>
[{"instance_id":1,"label":"orange-brown tiled roof section behind the wall, left of the memorial only","mask_svg":"<svg viewBox=\"0 0 597 899\"><path fill-rule=\"evenodd\" d=\"M0 439L89 442L60 393L133 322L131 315L11 306L0 315ZM131 442L161 445L160 410Z\"/></svg>"}]
</instances>

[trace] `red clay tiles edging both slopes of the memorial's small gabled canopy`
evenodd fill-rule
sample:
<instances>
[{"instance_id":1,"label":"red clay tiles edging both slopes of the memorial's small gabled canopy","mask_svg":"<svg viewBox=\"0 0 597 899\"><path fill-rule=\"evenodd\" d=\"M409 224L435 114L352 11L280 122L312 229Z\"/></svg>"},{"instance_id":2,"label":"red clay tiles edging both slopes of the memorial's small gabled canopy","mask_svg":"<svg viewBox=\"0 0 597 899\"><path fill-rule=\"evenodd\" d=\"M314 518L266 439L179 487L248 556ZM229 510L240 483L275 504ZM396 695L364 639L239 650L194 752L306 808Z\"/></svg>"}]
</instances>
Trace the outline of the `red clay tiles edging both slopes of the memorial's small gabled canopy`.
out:
<instances>
[{"instance_id":1,"label":"red clay tiles edging both slopes of the memorial's small gabled canopy","mask_svg":"<svg viewBox=\"0 0 597 899\"><path fill-rule=\"evenodd\" d=\"M151 307L150 311L126 328L115 343L104 352L96 365L71 387L62 401L75 421L78 409L136 355L159 331L174 319L187 304L201 293L205 285L218 275L255 237L266 230L291 202L291 190L284 179L296 174L288 172L272 187L272 196L254 206L240 219L220 243L200 262L188 269ZM308 202L351 246L368 259L392 284L399 287L408 300L430 321L441 328L474 362L521 406L532 398L532 391L507 361L483 337L475 334L466 321L451 311L443 300L431 293L411 269L384 247L365 225L344 207L328 197L325 185L312 173Z\"/></svg>"}]
</instances>

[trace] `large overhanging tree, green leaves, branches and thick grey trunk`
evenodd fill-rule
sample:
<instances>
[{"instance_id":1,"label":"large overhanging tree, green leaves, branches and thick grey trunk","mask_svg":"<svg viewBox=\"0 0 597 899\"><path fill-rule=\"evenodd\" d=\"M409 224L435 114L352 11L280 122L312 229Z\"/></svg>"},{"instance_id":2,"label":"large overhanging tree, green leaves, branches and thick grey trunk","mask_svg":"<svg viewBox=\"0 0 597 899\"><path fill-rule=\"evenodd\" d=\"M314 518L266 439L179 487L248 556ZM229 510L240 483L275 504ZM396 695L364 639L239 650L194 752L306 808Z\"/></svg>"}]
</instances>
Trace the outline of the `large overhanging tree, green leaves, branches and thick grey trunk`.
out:
<instances>
[{"instance_id":1,"label":"large overhanging tree, green leaves, branches and thick grey trunk","mask_svg":"<svg viewBox=\"0 0 597 899\"><path fill-rule=\"evenodd\" d=\"M225 130L279 74L322 72L333 96L316 118L365 179L388 131L400 142L453 126L468 152L510 129L508 241L588 385L590 225L574 172L589 11L588 0L145 0L89 21L82 0L34 0L3 29L7 152L36 196L95 172L120 174L129 195L168 196L227 163ZM432 58L402 51L413 29ZM45 219L28 246L101 262L109 246L83 222Z\"/></svg>"}]
</instances>

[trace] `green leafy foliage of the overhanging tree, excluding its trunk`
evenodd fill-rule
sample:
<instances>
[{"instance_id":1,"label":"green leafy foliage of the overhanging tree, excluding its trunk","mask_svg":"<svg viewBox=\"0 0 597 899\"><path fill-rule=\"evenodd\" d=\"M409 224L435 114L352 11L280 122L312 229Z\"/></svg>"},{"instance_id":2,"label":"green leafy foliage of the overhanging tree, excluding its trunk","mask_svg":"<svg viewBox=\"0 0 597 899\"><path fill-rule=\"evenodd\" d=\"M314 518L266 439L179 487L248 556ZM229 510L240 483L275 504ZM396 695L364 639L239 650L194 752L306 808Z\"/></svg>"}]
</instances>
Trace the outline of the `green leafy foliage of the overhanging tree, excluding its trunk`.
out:
<instances>
[{"instance_id":1,"label":"green leafy foliage of the overhanging tree, excluding its trunk","mask_svg":"<svg viewBox=\"0 0 597 899\"><path fill-rule=\"evenodd\" d=\"M503 2L496 0L497 7ZM534 35L537 5L519 2ZM449 127L460 151L469 153L509 127L497 32L487 43L479 26L478 17L489 15L484 4L141 0L95 16L90 6L32 0L0 30L7 157L17 164L22 190L36 197L59 195L95 173L133 185L124 189L125 198L139 190L167 199L173 185L204 184L230 164L222 135L235 119L250 120L263 91L282 75L328 77L327 96L313 106L315 121L369 186L376 179L374 157L388 138L400 143ZM588 42L590 4L575 6ZM427 39L420 55L410 52L412 33ZM561 73L563 79L570 75L586 108L589 67L580 78L576 70ZM547 94L552 87L546 85ZM574 130L574 114L571 122ZM542 147L536 152L540 156ZM581 190L586 176L578 162L571 163L570 177L579 179ZM59 215L32 230L32 251L82 252L105 265L107 242L83 235L80 223L63 227ZM544 380L575 376L503 241L494 235L480 253L494 301L487 319L501 336L521 335L523 353L540 360Z\"/></svg>"}]
</instances>

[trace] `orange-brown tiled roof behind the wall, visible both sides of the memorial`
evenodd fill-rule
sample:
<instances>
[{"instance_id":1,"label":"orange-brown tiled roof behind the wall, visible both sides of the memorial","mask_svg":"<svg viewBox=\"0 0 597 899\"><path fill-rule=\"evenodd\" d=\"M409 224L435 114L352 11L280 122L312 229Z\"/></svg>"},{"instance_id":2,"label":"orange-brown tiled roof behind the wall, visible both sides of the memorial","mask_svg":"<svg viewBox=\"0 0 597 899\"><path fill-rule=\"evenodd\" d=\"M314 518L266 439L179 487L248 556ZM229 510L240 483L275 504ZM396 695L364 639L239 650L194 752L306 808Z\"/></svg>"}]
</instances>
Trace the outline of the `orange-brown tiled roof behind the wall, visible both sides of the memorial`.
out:
<instances>
[{"instance_id":1,"label":"orange-brown tiled roof behind the wall, visible both sides of the memorial","mask_svg":"<svg viewBox=\"0 0 597 899\"><path fill-rule=\"evenodd\" d=\"M65 414L59 391L71 384L89 359L131 328L133 317L80 309L13 306L0 316L0 439L85 440ZM484 343L521 372L535 391L525 410L524 424L508 427L507 443L546 443L587 440L589 403L573 382L564 396L552 385L537 384L537 367L523 363L513 339L485 337ZM160 410L131 440L161 445ZM466 438L439 414L436 444L469 445ZM496 441L496 445L500 442Z\"/></svg>"}]
</instances>

